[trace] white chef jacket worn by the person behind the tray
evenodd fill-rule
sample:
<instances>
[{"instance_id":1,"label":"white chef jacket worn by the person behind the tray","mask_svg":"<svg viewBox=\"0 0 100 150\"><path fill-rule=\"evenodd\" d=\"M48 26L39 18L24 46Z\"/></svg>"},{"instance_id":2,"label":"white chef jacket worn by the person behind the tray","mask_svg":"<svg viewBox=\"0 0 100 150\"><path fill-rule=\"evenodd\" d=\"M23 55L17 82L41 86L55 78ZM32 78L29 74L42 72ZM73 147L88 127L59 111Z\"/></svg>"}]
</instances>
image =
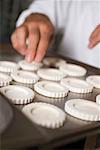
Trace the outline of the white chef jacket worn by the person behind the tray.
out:
<instances>
[{"instance_id":1,"label":"white chef jacket worn by the person behind the tray","mask_svg":"<svg viewBox=\"0 0 100 150\"><path fill-rule=\"evenodd\" d=\"M34 0L20 15L17 26L36 12L53 23L60 54L100 68L100 44L88 48L90 34L100 24L100 0Z\"/></svg>"}]
</instances>

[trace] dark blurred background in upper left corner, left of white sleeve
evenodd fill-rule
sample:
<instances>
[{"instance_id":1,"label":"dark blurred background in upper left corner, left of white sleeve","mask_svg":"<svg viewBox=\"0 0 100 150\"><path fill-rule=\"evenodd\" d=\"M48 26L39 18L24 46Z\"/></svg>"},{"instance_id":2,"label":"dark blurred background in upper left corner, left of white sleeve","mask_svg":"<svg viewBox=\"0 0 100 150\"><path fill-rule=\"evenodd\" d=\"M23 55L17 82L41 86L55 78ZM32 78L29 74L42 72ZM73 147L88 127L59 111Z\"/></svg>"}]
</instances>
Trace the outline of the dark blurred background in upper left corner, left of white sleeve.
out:
<instances>
[{"instance_id":1,"label":"dark blurred background in upper left corner, left of white sleeve","mask_svg":"<svg viewBox=\"0 0 100 150\"><path fill-rule=\"evenodd\" d=\"M10 41L19 14L32 0L0 0L0 43Z\"/></svg>"}]
</instances>

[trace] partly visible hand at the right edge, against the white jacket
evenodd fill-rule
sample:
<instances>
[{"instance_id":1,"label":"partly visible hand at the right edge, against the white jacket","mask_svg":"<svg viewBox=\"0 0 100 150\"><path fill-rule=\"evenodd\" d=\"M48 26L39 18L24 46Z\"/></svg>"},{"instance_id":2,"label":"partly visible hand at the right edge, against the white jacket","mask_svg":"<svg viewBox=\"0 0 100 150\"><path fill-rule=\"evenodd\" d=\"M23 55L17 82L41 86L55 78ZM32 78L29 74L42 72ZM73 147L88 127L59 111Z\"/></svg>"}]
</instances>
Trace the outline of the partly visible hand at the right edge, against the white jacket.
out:
<instances>
[{"instance_id":1,"label":"partly visible hand at the right edge, against the white jacket","mask_svg":"<svg viewBox=\"0 0 100 150\"><path fill-rule=\"evenodd\" d=\"M89 48L93 48L100 42L100 24L96 27L96 29L92 32L89 38Z\"/></svg>"}]
</instances>

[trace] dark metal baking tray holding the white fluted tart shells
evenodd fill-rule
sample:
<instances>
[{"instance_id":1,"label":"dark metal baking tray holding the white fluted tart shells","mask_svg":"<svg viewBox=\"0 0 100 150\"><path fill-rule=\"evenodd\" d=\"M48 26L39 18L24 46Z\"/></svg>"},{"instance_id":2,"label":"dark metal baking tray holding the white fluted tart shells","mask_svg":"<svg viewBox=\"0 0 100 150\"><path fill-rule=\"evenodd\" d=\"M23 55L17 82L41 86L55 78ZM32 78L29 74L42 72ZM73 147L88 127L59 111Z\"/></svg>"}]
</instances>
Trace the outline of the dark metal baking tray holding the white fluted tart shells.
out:
<instances>
[{"instance_id":1,"label":"dark metal baking tray holding the white fluted tart shells","mask_svg":"<svg viewBox=\"0 0 100 150\"><path fill-rule=\"evenodd\" d=\"M49 54L49 55L60 57L65 59L69 63L75 63L85 67L88 70L87 76L93 74L100 74L99 68L94 68L87 64L83 64L81 62L77 62L75 60L65 58L61 55L56 55L56 54ZM22 57L18 55L10 45L6 44L0 46L0 60L11 60L11 61L18 62L21 59ZM93 92L89 94L76 94L70 92L67 97L61 99L59 103L55 102L54 105L60 107L61 109L64 109L64 103L71 98L84 98L90 101L95 101L95 97L98 94L100 94L100 89L96 89L96 88L94 88ZM44 97L36 93L34 101L46 102L47 100L49 101L50 99L51 98ZM20 118L19 120L21 122L20 124L21 126L14 127L14 122L10 124L10 128L8 128L2 135L2 139L3 139L2 145L4 147L5 145L8 147L11 146L13 147L16 145L17 148L31 147L31 146L47 147L47 148L57 147L63 144L68 144L73 141L82 139L89 135L95 135L100 133L99 121L98 122L82 121L74 117L71 117L68 114L66 114L67 117L64 126L60 127L59 129L47 129L32 123L25 116L23 116L23 114L21 113L22 107L23 107L22 105L14 106L15 114L16 112L18 114L18 117L16 117L15 115L15 122L16 119L18 120ZM26 126L25 126L25 121L27 122ZM25 127L25 128L21 129L21 127L23 128ZM22 130L24 136L21 135ZM15 143L19 143L19 144L15 144Z\"/></svg>"}]
</instances>

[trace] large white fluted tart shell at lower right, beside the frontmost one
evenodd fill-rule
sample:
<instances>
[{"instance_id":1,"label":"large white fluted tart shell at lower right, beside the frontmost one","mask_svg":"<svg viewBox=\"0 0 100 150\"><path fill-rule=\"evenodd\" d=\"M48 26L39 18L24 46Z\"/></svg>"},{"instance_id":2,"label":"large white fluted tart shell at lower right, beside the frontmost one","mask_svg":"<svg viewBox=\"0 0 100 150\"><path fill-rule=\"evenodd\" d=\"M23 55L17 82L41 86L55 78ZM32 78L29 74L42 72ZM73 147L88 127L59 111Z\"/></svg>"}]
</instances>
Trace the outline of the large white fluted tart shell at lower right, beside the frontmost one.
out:
<instances>
[{"instance_id":1,"label":"large white fluted tart shell at lower right, beside the frontmost one","mask_svg":"<svg viewBox=\"0 0 100 150\"><path fill-rule=\"evenodd\" d=\"M70 99L65 103L65 111L78 119L100 121L100 106L85 99Z\"/></svg>"}]
</instances>

